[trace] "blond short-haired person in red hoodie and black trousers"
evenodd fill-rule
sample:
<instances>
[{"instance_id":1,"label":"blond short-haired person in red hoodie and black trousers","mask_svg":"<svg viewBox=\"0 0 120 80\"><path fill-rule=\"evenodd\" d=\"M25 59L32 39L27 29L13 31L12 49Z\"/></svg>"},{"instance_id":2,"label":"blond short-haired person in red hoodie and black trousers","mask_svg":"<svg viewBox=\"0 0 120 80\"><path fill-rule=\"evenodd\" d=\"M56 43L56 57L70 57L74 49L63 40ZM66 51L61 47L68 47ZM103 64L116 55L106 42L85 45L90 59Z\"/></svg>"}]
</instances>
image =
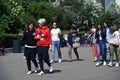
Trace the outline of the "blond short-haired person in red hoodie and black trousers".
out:
<instances>
[{"instance_id":1,"label":"blond short-haired person in red hoodie and black trousers","mask_svg":"<svg viewBox=\"0 0 120 80\"><path fill-rule=\"evenodd\" d=\"M38 28L35 31L34 39L37 40L37 54L38 54L38 60L39 60L40 69L41 69L38 75L44 74L43 61L49 66L49 72L52 72L53 68L51 66L51 63L49 60L49 54L48 54L48 52L52 50L52 45L51 45L52 41L51 41L50 29L46 25L45 18L40 18L38 20Z\"/></svg>"}]
</instances>

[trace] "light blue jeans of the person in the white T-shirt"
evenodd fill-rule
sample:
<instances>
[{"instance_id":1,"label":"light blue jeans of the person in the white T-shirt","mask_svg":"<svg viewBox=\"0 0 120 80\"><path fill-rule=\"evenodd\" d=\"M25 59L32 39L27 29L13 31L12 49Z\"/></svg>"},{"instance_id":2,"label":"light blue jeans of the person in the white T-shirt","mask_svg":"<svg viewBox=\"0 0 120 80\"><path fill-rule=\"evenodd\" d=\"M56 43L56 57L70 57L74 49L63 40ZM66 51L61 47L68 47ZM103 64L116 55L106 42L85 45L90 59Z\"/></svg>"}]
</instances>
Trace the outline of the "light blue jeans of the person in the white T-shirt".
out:
<instances>
[{"instance_id":1,"label":"light blue jeans of the person in the white T-shirt","mask_svg":"<svg viewBox=\"0 0 120 80\"><path fill-rule=\"evenodd\" d=\"M55 59L55 49L57 48L58 58L61 59L60 41L52 41L51 60Z\"/></svg>"}]
</instances>

